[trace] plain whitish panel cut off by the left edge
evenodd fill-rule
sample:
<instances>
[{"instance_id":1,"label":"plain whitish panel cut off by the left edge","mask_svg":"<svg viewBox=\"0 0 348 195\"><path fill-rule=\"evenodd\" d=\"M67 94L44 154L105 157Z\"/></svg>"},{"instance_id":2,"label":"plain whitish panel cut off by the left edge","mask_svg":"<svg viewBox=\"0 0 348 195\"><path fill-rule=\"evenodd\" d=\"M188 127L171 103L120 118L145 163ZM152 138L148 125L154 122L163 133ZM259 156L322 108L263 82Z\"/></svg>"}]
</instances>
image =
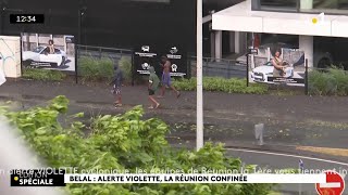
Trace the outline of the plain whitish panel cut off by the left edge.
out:
<instances>
[{"instance_id":1,"label":"plain whitish panel cut off by the left edge","mask_svg":"<svg viewBox=\"0 0 348 195\"><path fill-rule=\"evenodd\" d=\"M21 77L21 37L0 36L0 83Z\"/></svg>"}]
</instances>

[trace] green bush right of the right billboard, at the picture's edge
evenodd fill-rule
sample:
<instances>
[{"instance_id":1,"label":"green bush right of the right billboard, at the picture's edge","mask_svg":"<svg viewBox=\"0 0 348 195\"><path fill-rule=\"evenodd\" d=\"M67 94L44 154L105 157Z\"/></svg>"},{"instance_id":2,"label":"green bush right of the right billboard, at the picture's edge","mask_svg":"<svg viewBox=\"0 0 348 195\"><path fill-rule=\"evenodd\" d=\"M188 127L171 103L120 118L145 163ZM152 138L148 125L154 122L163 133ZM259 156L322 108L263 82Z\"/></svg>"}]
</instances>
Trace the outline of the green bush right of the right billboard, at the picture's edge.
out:
<instances>
[{"instance_id":1,"label":"green bush right of the right billboard, at the picture's edge","mask_svg":"<svg viewBox=\"0 0 348 195\"><path fill-rule=\"evenodd\" d=\"M348 95L348 74L344 69L313 70L308 77L310 94Z\"/></svg>"}]
</instances>

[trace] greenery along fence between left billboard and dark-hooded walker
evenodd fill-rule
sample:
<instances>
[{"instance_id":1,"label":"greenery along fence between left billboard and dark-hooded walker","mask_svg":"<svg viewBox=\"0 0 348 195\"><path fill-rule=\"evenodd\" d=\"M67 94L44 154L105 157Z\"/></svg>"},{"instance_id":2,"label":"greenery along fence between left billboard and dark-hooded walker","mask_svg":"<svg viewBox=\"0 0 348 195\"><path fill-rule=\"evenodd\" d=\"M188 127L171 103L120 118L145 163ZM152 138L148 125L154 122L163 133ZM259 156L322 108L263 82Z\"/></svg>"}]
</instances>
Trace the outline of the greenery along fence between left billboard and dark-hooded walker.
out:
<instances>
[{"instance_id":1,"label":"greenery along fence between left billboard and dark-hooded walker","mask_svg":"<svg viewBox=\"0 0 348 195\"><path fill-rule=\"evenodd\" d=\"M78 73L85 80L112 79L114 62L109 57L83 56L78 60Z\"/></svg>"}]
</instances>

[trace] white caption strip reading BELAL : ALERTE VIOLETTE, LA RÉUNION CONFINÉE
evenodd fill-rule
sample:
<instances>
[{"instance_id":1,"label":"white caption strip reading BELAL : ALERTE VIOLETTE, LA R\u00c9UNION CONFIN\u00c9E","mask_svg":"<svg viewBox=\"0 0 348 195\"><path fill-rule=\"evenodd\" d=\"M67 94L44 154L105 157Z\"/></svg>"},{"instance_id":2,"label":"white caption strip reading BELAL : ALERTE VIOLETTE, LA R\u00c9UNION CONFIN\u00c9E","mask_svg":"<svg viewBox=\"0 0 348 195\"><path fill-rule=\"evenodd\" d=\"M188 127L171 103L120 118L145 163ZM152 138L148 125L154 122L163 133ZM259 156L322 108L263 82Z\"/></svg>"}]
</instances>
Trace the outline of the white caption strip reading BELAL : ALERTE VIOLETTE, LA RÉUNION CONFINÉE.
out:
<instances>
[{"instance_id":1,"label":"white caption strip reading BELAL : ALERTE VIOLETTE, LA R\u00c9UNION CONFIN\u00c9E","mask_svg":"<svg viewBox=\"0 0 348 195\"><path fill-rule=\"evenodd\" d=\"M65 183L326 183L326 174L65 174Z\"/></svg>"}]
</instances>

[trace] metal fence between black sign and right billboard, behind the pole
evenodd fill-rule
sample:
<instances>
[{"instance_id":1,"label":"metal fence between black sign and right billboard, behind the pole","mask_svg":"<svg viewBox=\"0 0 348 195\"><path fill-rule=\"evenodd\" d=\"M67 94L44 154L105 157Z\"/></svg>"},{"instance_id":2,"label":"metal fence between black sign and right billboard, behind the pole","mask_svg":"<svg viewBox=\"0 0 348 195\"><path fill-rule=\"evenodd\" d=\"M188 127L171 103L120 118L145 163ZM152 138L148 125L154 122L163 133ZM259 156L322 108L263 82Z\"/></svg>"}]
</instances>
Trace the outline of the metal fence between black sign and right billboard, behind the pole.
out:
<instances>
[{"instance_id":1,"label":"metal fence between black sign and right billboard, behind the pole","mask_svg":"<svg viewBox=\"0 0 348 195\"><path fill-rule=\"evenodd\" d=\"M191 77L196 77L197 57L189 57L189 70ZM246 78L247 66L237 65L235 60L203 57L204 77Z\"/></svg>"}]
</instances>

